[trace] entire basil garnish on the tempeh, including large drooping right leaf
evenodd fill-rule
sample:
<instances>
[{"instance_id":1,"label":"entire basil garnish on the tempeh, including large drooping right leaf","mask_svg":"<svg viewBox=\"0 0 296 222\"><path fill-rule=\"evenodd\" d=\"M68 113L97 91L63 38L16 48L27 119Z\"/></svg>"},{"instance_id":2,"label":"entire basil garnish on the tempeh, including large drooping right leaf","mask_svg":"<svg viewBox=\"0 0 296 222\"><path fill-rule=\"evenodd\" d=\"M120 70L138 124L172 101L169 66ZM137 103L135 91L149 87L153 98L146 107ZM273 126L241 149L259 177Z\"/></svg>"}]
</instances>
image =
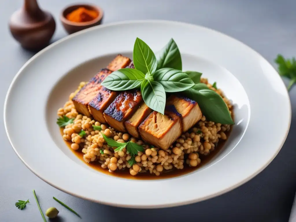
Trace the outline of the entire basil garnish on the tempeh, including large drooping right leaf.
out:
<instances>
[{"instance_id":1,"label":"entire basil garnish on the tempeh, including large drooping right leaf","mask_svg":"<svg viewBox=\"0 0 296 222\"><path fill-rule=\"evenodd\" d=\"M155 56L144 41L136 38L133 64L134 69L124 68L108 75L102 85L114 91L141 89L147 106L161 114L165 110L166 93L182 92L199 104L208 120L234 124L222 97L200 83L202 73L181 71L181 54L173 39Z\"/></svg>"}]
</instances>

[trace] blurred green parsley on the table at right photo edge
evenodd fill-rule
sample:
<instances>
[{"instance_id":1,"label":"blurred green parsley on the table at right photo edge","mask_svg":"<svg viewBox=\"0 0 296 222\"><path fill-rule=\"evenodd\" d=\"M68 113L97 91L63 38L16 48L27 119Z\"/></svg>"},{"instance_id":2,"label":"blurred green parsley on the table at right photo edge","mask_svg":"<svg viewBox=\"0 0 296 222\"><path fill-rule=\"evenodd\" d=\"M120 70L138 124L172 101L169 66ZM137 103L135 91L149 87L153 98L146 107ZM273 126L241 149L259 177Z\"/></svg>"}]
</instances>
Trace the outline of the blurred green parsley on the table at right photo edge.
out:
<instances>
[{"instance_id":1,"label":"blurred green parsley on the table at right photo edge","mask_svg":"<svg viewBox=\"0 0 296 222\"><path fill-rule=\"evenodd\" d=\"M285 59L281 54L278 54L274 61L278 65L279 75L290 79L289 86L287 87L288 90L290 90L292 85L296 82L295 57L292 59Z\"/></svg>"}]
</instances>

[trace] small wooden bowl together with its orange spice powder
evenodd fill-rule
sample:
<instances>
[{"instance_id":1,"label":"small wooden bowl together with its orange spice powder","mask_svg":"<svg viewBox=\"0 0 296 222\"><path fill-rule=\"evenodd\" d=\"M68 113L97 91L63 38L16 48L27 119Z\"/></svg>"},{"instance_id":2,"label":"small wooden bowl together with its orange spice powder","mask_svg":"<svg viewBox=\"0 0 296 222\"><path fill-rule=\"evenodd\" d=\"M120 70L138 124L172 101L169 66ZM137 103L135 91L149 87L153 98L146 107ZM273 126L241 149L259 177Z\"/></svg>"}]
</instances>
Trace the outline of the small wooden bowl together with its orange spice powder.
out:
<instances>
[{"instance_id":1,"label":"small wooden bowl together with its orange spice powder","mask_svg":"<svg viewBox=\"0 0 296 222\"><path fill-rule=\"evenodd\" d=\"M67 33L72 34L102 22L103 10L90 4L76 4L62 10L60 20Z\"/></svg>"}]
</instances>

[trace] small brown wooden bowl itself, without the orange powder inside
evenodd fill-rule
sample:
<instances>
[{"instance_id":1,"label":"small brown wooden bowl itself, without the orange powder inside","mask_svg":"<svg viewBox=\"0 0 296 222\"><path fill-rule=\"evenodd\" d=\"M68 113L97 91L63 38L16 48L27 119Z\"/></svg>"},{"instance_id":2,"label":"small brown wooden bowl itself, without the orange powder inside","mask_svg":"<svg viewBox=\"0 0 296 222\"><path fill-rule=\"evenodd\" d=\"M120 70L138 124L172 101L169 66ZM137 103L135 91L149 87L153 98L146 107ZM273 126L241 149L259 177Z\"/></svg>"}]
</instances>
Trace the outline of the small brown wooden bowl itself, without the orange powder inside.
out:
<instances>
[{"instance_id":1,"label":"small brown wooden bowl itself, without the orange powder inside","mask_svg":"<svg viewBox=\"0 0 296 222\"><path fill-rule=\"evenodd\" d=\"M89 10L94 10L96 12L98 12L98 17L96 17L94 20L91 20L89 22L71 22L69 20L67 20L66 16L73 12L74 10L78 9L79 7L84 7L86 9ZM90 28L93 27L95 25L99 25L102 22L103 19L103 10L95 5L90 5L90 4L76 4L76 5L70 5L65 7L62 10L62 14L60 16L60 20L65 28L65 30L67 31L67 33L72 34L78 31L81 31L83 29L86 28Z\"/></svg>"}]
</instances>

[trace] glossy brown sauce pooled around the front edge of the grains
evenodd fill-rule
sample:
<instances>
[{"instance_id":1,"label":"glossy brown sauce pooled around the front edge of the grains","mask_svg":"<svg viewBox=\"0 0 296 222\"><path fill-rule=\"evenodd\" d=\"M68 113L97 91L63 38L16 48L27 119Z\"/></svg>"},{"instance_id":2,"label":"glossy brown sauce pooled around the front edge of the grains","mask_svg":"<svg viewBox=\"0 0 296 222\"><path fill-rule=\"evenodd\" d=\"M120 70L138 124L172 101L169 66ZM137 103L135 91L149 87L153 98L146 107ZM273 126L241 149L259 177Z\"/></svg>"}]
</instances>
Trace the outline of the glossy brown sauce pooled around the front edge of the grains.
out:
<instances>
[{"instance_id":1,"label":"glossy brown sauce pooled around the front edge of the grains","mask_svg":"<svg viewBox=\"0 0 296 222\"><path fill-rule=\"evenodd\" d=\"M228 132L226 132L226 136L227 138L229 137L229 134L231 133L232 130L232 126L230 127L230 130ZM61 134L63 135L63 128L60 129ZM172 178L172 177L177 177L177 176L182 176L185 175L187 173L191 173L194 170L199 169L200 167L206 165L211 159L213 159L213 157L222 149L223 145L225 144L226 140L220 140L218 143L218 146L215 147L215 149L213 151L210 152L210 154L208 155L199 155L199 158L201 160L201 163L199 165L197 165L196 167L191 167L188 164L186 164L184 162L184 168L183 169L177 169L177 168L173 168L171 170L163 170L163 172L160 174L160 176L156 176L155 174L150 174L149 171L147 173L138 173L136 176L132 176L129 172L128 168L124 168L122 170L115 170L113 171L113 173L110 173L108 168L103 169L101 167L101 163L99 162L94 162L94 163L86 163L83 160L83 155L84 153L81 152L82 148L78 149L78 150L73 150L71 149L71 144L72 142L66 141L67 146L69 147L69 149L75 154L76 157L78 157L81 161L83 161L83 163L87 164L89 167L93 168L94 170L97 170L101 173L105 173L108 175L112 175L112 176L117 176L117 177L121 177L121 178L128 178L128 179L139 179L139 180L157 180L157 179L166 179L166 178Z\"/></svg>"}]
</instances>

